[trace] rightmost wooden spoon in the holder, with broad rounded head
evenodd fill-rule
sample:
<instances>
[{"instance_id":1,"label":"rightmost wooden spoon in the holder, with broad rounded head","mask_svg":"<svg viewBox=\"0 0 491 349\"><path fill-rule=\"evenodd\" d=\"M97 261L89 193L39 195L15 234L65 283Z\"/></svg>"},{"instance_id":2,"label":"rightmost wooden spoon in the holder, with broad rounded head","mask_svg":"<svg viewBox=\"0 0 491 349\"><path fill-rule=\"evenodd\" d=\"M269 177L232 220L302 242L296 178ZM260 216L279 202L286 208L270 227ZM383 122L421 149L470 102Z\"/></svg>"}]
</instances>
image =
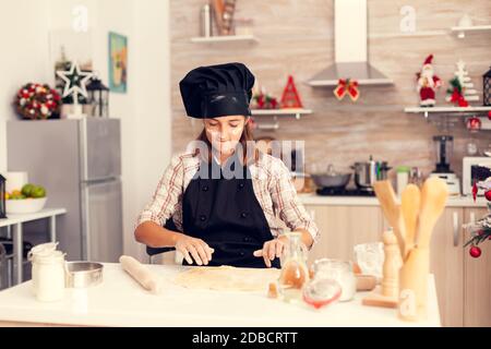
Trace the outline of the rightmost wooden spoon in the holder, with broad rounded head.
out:
<instances>
[{"instance_id":1,"label":"rightmost wooden spoon in the holder, with broad rounded head","mask_svg":"<svg viewBox=\"0 0 491 349\"><path fill-rule=\"evenodd\" d=\"M421 189L421 207L419 212L417 246L427 249L431 242L436 220L445 209L445 203L448 197L446 183L438 178L431 177L424 181Z\"/></svg>"}]
</instances>

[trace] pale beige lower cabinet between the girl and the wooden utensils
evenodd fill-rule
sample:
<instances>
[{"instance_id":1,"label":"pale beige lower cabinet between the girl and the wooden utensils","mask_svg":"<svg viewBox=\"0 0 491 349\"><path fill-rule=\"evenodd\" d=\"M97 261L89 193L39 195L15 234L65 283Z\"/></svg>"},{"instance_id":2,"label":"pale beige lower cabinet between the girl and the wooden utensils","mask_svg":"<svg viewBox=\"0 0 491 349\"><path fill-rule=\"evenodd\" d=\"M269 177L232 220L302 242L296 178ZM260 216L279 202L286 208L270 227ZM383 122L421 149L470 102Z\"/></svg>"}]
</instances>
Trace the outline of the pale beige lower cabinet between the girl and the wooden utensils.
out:
<instances>
[{"instance_id":1,"label":"pale beige lower cabinet between the girl and the wooden utensils","mask_svg":"<svg viewBox=\"0 0 491 349\"><path fill-rule=\"evenodd\" d=\"M379 206L306 205L321 233L309 253L309 263L322 257L354 260L358 243L381 241L382 210Z\"/></svg>"}]
</instances>

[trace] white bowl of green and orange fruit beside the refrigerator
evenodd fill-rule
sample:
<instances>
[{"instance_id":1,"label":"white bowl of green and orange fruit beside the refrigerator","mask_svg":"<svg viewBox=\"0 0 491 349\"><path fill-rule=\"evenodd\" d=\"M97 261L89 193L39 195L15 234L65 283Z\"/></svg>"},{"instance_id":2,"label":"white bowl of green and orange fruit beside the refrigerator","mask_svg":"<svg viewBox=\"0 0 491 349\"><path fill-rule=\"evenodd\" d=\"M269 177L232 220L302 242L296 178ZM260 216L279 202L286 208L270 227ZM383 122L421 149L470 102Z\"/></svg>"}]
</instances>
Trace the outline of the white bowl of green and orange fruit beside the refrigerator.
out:
<instances>
[{"instance_id":1,"label":"white bowl of green and orange fruit beside the refrigerator","mask_svg":"<svg viewBox=\"0 0 491 349\"><path fill-rule=\"evenodd\" d=\"M47 201L45 188L27 183L21 190L5 193L5 210L8 215L34 214L41 210Z\"/></svg>"}]
</instances>

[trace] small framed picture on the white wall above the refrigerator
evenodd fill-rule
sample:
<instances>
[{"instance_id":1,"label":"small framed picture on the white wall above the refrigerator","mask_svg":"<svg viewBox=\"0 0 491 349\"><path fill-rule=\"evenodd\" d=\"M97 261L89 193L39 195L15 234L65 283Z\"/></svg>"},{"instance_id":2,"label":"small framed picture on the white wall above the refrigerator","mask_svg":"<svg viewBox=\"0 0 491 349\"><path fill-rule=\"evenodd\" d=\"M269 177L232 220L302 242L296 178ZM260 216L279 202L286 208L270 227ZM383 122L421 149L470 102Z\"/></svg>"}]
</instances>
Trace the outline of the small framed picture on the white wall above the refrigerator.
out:
<instances>
[{"instance_id":1,"label":"small framed picture on the white wall above the refrigerator","mask_svg":"<svg viewBox=\"0 0 491 349\"><path fill-rule=\"evenodd\" d=\"M128 38L109 32L109 89L125 94L128 85Z\"/></svg>"}]
</instances>

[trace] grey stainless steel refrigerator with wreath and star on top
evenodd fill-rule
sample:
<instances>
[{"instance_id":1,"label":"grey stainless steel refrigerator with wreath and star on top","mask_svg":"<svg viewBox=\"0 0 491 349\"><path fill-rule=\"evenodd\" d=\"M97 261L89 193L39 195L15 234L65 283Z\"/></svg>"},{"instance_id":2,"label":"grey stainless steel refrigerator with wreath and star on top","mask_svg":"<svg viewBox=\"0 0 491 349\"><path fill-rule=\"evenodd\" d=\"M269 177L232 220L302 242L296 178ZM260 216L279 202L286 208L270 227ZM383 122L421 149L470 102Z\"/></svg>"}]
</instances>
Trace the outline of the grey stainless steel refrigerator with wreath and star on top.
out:
<instances>
[{"instance_id":1,"label":"grey stainless steel refrigerator with wreath and star on top","mask_svg":"<svg viewBox=\"0 0 491 349\"><path fill-rule=\"evenodd\" d=\"M46 188L47 207L68 210L57 224L67 258L118 262L123 240L120 120L9 121L7 136L8 170L27 171L29 182Z\"/></svg>"}]
</instances>

